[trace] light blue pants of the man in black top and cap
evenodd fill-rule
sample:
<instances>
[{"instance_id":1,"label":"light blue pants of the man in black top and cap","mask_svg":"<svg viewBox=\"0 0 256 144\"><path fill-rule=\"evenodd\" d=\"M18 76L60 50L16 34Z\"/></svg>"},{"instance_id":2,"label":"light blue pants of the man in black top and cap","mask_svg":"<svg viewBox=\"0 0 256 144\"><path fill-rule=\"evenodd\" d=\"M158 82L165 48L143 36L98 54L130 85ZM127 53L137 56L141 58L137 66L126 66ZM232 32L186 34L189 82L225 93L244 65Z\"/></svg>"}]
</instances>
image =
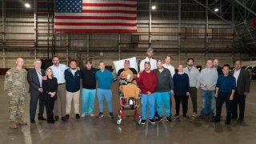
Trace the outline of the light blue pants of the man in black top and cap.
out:
<instances>
[{"instance_id":1,"label":"light blue pants of the man in black top and cap","mask_svg":"<svg viewBox=\"0 0 256 144\"><path fill-rule=\"evenodd\" d=\"M82 89L82 114L93 114L96 89ZM88 107L89 103L89 107Z\"/></svg>"}]
</instances>

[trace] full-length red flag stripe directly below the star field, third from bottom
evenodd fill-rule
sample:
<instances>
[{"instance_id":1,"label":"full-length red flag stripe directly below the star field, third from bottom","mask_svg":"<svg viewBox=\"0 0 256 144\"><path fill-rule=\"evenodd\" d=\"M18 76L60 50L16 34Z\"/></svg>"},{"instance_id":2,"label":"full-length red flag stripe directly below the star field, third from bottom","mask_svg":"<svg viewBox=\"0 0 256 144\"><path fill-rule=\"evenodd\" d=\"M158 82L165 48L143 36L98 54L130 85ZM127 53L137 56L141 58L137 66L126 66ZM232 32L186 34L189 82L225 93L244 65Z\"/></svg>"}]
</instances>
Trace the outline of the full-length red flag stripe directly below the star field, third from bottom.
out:
<instances>
[{"instance_id":1,"label":"full-length red flag stripe directly below the star field, third from bottom","mask_svg":"<svg viewBox=\"0 0 256 144\"><path fill-rule=\"evenodd\" d=\"M55 16L55 19L122 19L122 20L136 20L136 17L121 17L121 16Z\"/></svg>"}]
</instances>

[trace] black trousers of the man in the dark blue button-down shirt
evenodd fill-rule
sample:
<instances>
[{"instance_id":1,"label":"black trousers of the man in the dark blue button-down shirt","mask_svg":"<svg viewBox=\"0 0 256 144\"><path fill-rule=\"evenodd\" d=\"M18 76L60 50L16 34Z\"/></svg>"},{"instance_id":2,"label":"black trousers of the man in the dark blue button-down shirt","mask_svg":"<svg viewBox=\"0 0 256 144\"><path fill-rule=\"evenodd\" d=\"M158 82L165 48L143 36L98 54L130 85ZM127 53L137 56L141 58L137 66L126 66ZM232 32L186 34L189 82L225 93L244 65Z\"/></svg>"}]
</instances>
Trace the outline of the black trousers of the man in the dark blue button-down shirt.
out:
<instances>
[{"instance_id":1,"label":"black trousers of the man in the dark blue button-down shirt","mask_svg":"<svg viewBox=\"0 0 256 144\"><path fill-rule=\"evenodd\" d=\"M222 115L222 105L226 103L226 122L230 122L231 120L231 106L232 101L230 101L231 93L218 93L218 97L216 98L216 119L220 119Z\"/></svg>"}]
</instances>

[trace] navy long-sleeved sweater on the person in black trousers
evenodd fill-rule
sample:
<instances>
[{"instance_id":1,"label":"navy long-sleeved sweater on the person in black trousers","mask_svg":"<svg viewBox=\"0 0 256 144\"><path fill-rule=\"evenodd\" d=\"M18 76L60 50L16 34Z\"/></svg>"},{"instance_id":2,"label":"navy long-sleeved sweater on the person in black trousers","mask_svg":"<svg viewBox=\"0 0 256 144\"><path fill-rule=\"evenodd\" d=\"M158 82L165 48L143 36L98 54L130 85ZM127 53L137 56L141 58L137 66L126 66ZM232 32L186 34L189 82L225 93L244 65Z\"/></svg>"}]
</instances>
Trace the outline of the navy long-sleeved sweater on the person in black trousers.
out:
<instances>
[{"instance_id":1,"label":"navy long-sleeved sweater on the person in black trousers","mask_svg":"<svg viewBox=\"0 0 256 144\"><path fill-rule=\"evenodd\" d=\"M189 76L186 73L174 74L174 94L186 95L186 92L190 92Z\"/></svg>"}]
</instances>

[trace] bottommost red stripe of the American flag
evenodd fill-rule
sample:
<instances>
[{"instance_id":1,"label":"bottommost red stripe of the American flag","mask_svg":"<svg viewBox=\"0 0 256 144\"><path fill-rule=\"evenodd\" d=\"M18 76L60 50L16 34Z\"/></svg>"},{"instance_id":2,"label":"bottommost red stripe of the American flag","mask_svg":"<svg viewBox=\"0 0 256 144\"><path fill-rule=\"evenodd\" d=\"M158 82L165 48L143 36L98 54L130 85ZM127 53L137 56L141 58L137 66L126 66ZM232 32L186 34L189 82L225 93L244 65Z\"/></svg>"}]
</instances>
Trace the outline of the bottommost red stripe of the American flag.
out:
<instances>
[{"instance_id":1,"label":"bottommost red stripe of the American flag","mask_svg":"<svg viewBox=\"0 0 256 144\"><path fill-rule=\"evenodd\" d=\"M54 29L55 32L74 32L74 33L136 33L137 30L118 30L118 29Z\"/></svg>"}]
</instances>

